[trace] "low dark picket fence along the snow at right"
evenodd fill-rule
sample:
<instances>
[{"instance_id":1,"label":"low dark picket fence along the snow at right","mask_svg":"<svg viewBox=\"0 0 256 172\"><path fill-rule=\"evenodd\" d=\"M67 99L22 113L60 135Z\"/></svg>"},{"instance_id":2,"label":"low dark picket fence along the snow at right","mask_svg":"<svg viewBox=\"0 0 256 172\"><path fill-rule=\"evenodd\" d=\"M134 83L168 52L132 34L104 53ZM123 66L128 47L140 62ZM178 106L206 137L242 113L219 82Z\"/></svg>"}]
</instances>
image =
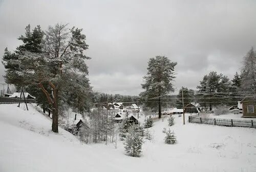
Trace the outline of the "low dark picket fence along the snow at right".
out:
<instances>
[{"instance_id":1,"label":"low dark picket fence along the snow at right","mask_svg":"<svg viewBox=\"0 0 256 172\"><path fill-rule=\"evenodd\" d=\"M220 118L203 118L198 115L188 116L188 122L200 123L200 124L211 124L217 126L227 127L250 127L256 128L256 120L246 119L220 119Z\"/></svg>"}]
</instances>

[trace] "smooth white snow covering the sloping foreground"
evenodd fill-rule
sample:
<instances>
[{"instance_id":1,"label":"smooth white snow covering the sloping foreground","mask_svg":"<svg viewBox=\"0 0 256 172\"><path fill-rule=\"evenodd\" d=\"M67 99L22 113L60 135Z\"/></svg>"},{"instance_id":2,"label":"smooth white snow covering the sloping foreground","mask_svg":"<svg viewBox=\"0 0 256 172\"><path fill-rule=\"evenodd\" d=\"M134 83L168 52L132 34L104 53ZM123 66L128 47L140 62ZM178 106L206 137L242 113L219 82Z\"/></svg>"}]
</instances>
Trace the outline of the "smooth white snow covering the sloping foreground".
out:
<instances>
[{"instance_id":1,"label":"smooth white snow covering the sloping foreground","mask_svg":"<svg viewBox=\"0 0 256 172\"><path fill-rule=\"evenodd\" d=\"M51 132L51 119L29 105L0 105L0 171L256 171L256 130L203 124L168 127L154 122L154 140L145 140L142 157L124 155L122 141L81 144L65 130ZM188 114L186 114L186 117ZM187 121L187 120L186 120ZM164 143L163 128L178 143Z\"/></svg>"}]
</instances>

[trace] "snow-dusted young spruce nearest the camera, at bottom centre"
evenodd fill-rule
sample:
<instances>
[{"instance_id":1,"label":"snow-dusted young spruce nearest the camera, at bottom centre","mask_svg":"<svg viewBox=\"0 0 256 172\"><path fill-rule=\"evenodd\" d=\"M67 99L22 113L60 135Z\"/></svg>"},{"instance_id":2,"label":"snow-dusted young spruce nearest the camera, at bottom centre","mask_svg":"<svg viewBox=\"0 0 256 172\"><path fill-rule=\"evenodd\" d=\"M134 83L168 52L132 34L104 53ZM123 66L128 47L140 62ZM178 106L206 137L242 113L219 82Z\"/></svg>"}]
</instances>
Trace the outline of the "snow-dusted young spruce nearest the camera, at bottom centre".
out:
<instances>
[{"instance_id":1,"label":"snow-dusted young spruce nearest the camera, at bottom centre","mask_svg":"<svg viewBox=\"0 0 256 172\"><path fill-rule=\"evenodd\" d=\"M124 142L125 152L132 157L139 157L142 152L143 137L138 128L138 125L132 125L126 134Z\"/></svg>"}]
</instances>

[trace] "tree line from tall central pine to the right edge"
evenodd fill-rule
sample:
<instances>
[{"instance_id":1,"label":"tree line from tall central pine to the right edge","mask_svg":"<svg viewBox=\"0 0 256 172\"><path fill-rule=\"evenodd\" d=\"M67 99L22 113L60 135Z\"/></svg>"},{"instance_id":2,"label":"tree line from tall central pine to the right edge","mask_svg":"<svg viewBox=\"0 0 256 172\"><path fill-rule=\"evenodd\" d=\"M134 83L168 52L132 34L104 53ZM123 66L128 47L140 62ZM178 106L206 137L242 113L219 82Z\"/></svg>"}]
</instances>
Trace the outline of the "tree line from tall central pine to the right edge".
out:
<instances>
[{"instance_id":1,"label":"tree line from tall central pine to the right edge","mask_svg":"<svg viewBox=\"0 0 256 172\"><path fill-rule=\"evenodd\" d=\"M211 71L203 77L197 86L198 90L182 87L176 96L170 96L174 92L176 62L170 61L165 56L156 56L148 61L147 74L144 83L145 90L140 93L141 100L146 111L158 110L161 118L163 106L183 108L191 102L200 103L209 107L219 104L234 105L243 97L256 93L256 52L253 47L243 57L241 73L236 72L233 79L216 71ZM183 94L183 101L182 101ZM175 104L174 104L175 101Z\"/></svg>"}]
</instances>

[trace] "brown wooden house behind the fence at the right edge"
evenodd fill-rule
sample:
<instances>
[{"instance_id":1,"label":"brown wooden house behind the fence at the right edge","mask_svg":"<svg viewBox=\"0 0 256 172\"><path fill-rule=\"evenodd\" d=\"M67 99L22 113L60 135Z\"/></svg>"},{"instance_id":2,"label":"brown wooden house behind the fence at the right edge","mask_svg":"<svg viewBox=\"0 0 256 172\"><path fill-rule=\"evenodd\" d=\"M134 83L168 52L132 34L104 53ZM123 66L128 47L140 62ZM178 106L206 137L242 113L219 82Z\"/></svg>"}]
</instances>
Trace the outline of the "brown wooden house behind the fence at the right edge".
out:
<instances>
[{"instance_id":1,"label":"brown wooden house behind the fence at the right edge","mask_svg":"<svg viewBox=\"0 0 256 172\"><path fill-rule=\"evenodd\" d=\"M242 117L256 117L256 97L245 97L240 104L243 107Z\"/></svg>"}]
</instances>

